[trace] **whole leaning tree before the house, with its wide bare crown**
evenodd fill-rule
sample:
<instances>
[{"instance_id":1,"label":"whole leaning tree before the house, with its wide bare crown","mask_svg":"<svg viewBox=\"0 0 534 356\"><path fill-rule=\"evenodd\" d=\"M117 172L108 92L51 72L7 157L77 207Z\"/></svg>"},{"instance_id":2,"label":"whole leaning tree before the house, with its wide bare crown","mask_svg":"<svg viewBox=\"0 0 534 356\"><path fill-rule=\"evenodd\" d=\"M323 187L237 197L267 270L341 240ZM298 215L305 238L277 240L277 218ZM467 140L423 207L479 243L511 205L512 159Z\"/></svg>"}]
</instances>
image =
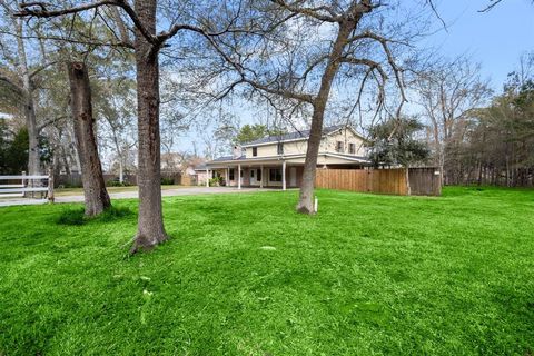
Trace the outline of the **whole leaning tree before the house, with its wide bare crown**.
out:
<instances>
[{"instance_id":1,"label":"whole leaning tree before the house, with its wide bare crown","mask_svg":"<svg viewBox=\"0 0 534 356\"><path fill-rule=\"evenodd\" d=\"M385 14L388 9L394 7L372 0L320 6L316 1L253 1L250 9L244 11L250 17L245 26L247 32L218 38L217 51L227 63L220 70L237 73L228 90L245 83L274 106L285 106L286 112L303 108L310 111L310 134L296 207L301 214L315 214L317 155L336 80L339 91L348 93L356 88L347 100L348 116L362 112L365 98L370 97L376 111L385 109L389 77L395 79L398 90L394 110L397 116L406 101L396 49L404 47L411 36L402 33L402 23L384 23L394 18L393 13L389 18ZM356 83L346 83L349 80ZM367 87L369 83L375 92L369 92L373 91Z\"/></svg>"}]
</instances>

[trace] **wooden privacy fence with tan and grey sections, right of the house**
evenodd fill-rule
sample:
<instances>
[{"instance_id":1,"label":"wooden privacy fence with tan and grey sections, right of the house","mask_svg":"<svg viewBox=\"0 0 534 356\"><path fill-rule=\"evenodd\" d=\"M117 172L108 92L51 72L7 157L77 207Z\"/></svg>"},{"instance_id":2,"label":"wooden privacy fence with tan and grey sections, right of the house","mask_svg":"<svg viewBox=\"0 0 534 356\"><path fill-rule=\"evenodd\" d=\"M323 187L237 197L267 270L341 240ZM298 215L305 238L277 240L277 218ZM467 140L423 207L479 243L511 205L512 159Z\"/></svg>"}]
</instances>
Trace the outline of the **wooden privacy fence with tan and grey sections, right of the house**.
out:
<instances>
[{"instance_id":1,"label":"wooden privacy fence with tan and grey sections, right of the house","mask_svg":"<svg viewBox=\"0 0 534 356\"><path fill-rule=\"evenodd\" d=\"M412 195L441 195L439 175L434 168L411 168ZM362 192L407 195L404 169L317 169L317 188Z\"/></svg>"}]
</instances>

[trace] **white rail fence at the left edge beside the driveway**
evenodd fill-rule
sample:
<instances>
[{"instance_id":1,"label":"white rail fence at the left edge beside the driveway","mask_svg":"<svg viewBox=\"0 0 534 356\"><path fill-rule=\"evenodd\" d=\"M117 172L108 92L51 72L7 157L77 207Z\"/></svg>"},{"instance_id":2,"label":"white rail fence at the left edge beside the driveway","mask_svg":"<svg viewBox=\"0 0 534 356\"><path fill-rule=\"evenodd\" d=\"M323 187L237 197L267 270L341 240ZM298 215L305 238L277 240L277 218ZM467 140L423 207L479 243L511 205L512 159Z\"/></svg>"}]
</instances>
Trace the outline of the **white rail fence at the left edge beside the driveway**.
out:
<instances>
[{"instance_id":1,"label":"white rail fence at the left edge beside the driveway","mask_svg":"<svg viewBox=\"0 0 534 356\"><path fill-rule=\"evenodd\" d=\"M0 176L0 198L30 198L41 202L53 202L53 175L48 176Z\"/></svg>"}]
</instances>

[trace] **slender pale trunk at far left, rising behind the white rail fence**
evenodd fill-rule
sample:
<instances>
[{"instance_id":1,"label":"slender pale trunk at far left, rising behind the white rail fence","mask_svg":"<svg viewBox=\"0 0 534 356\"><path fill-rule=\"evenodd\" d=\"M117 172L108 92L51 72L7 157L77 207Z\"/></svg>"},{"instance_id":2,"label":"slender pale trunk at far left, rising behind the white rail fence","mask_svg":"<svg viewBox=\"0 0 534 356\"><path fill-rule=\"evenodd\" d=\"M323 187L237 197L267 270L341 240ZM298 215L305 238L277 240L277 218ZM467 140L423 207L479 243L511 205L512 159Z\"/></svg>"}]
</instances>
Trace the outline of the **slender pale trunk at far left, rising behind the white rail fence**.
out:
<instances>
[{"instance_id":1,"label":"slender pale trunk at far left, rising behind the white rail fence","mask_svg":"<svg viewBox=\"0 0 534 356\"><path fill-rule=\"evenodd\" d=\"M23 40L22 20L13 20L17 29L17 49L19 55L19 67L22 73L22 86L24 89L24 116L26 126L28 128L28 174L30 176L39 176L41 161L39 156L39 132L37 128L36 107L33 102L33 85L31 82L28 68L28 59L26 56L26 46Z\"/></svg>"}]
</instances>

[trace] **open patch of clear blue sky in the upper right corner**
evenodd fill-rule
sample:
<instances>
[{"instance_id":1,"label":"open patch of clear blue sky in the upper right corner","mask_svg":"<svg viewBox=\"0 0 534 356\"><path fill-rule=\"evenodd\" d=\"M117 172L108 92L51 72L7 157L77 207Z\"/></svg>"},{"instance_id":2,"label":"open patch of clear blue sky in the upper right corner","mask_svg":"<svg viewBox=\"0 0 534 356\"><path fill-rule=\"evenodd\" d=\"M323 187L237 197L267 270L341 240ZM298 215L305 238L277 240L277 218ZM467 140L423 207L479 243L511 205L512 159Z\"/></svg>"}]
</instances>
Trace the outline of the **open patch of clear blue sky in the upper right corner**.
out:
<instances>
[{"instance_id":1,"label":"open patch of clear blue sky in the upper right corner","mask_svg":"<svg viewBox=\"0 0 534 356\"><path fill-rule=\"evenodd\" d=\"M531 0L503 0L491 11L478 12L488 2L441 1L437 10L447 30L439 30L422 44L435 47L447 57L471 57L482 65L483 76L498 90L520 56L534 51L534 4Z\"/></svg>"}]
</instances>

